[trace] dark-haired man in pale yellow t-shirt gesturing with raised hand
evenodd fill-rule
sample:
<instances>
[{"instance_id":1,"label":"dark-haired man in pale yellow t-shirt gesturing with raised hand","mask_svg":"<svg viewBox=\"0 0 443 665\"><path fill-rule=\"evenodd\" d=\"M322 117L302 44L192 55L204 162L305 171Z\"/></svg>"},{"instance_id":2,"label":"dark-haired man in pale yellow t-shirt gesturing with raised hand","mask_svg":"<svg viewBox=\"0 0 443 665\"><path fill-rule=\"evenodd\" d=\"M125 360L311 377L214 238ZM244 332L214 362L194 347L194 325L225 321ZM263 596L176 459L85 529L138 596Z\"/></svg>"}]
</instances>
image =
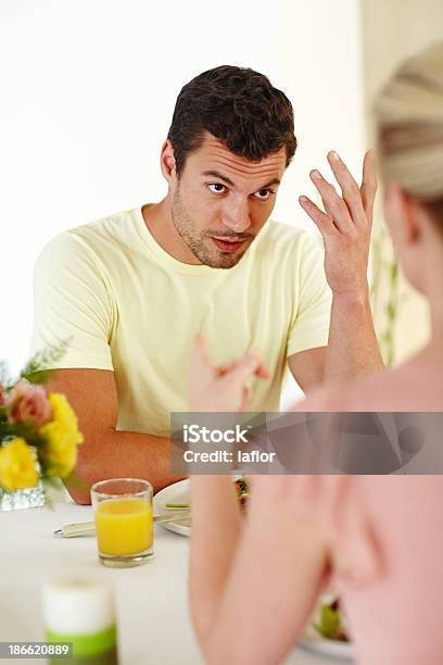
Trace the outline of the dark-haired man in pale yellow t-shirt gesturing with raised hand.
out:
<instances>
[{"instance_id":1,"label":"dark-haired man in pale yellow t-shirt gesturing with raised hand","mask_svg":"<svg viewBox=\"0 0 443 665\"><path fill-rule=\"evenodd\" d=\"M324 256L309 234L269 219L295 147L292 106L265 76L205 72L177 99L161 154L166 197L65 231L43 250L33 349L71 339L51 388L78 415L77 474L87 485L173 481L169 415L188 410L198 331L217 366L260 350L270 378L257 381L251 411L278 410L287 365L309 390L381 364L366 279L371 158L359 189L330 153L342 196L312 173L326 212L301 204ZM89 501L86 490L71 492Z\"/></svg>"}]
</instances>

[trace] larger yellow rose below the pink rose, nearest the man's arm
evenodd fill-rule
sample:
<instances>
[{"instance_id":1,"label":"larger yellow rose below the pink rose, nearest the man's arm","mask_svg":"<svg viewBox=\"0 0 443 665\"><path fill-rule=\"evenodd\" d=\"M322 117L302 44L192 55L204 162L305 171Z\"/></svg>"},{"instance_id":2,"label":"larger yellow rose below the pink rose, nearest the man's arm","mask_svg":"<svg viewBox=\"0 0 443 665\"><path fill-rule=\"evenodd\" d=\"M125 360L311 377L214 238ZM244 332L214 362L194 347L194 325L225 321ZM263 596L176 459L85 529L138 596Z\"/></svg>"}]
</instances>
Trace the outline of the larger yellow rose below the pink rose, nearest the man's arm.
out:
<instances>
[{"instance_id":1,"label":"larger yellow rose below the pink rose, nearest the man's arm","mask_svg":"<svg viewBox=\"0 0 443 665\"><path fill-rule=\"evenodd\" d=\"M47 476L67 476L77 463L77 446L83 442L77 417L64 394L50 392L52 421L40 428L46 443L39 448L39 459Z\"/></svg>"}]
</instances>

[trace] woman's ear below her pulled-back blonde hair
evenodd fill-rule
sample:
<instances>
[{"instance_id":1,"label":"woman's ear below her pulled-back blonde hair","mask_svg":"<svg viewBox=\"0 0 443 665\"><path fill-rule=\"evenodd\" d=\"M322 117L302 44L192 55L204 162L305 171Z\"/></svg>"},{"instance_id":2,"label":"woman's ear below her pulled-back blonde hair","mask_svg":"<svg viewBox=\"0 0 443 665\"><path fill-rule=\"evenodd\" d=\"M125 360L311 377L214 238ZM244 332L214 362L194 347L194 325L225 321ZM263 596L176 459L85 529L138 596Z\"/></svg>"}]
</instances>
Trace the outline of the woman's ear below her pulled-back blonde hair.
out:
<instances>
[{"instance_id":1,"label":"woman's ear below her pulled-back blonde hair","mask_svg":"<svg viewBox=\"0 0 443 665\"><path fill-rule=\"evenodd\" d=\"M395 244L414 244L421 236L421 206L397 183L384 185L384 212Z\"/></svg>"}]
</instances>

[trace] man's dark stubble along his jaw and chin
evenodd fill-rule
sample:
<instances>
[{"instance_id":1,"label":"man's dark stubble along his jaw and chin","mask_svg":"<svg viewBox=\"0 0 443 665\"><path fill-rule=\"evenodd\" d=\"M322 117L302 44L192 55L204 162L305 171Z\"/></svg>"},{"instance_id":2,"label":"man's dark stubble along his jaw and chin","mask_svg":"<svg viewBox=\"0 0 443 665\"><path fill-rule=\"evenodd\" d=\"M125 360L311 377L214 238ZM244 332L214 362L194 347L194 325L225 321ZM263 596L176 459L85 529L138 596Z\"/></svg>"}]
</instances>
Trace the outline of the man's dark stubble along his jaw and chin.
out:
<instances>
[{"instance_id":1,"label":"man's dark stubble along his jaw and chin","mask_svg":"<svg viewBox=\"0 0 443 665\"><path fill-rule=\"evenodd\" d=\"M244 256L251 244L250 242L246 249L239 254L232 255L218 252L218 258L216 256L217 250L214 247L214 254L212 255L204 244L204 238L208 238L208 236L194 230L193 222L182 204L179 186L174 195L170 214L176 231L180 236L181 240L191 250L195 259L198 259L198 261L200 261L203 265L225 269L235 267Z\"/></svg>"}]
</instances>

